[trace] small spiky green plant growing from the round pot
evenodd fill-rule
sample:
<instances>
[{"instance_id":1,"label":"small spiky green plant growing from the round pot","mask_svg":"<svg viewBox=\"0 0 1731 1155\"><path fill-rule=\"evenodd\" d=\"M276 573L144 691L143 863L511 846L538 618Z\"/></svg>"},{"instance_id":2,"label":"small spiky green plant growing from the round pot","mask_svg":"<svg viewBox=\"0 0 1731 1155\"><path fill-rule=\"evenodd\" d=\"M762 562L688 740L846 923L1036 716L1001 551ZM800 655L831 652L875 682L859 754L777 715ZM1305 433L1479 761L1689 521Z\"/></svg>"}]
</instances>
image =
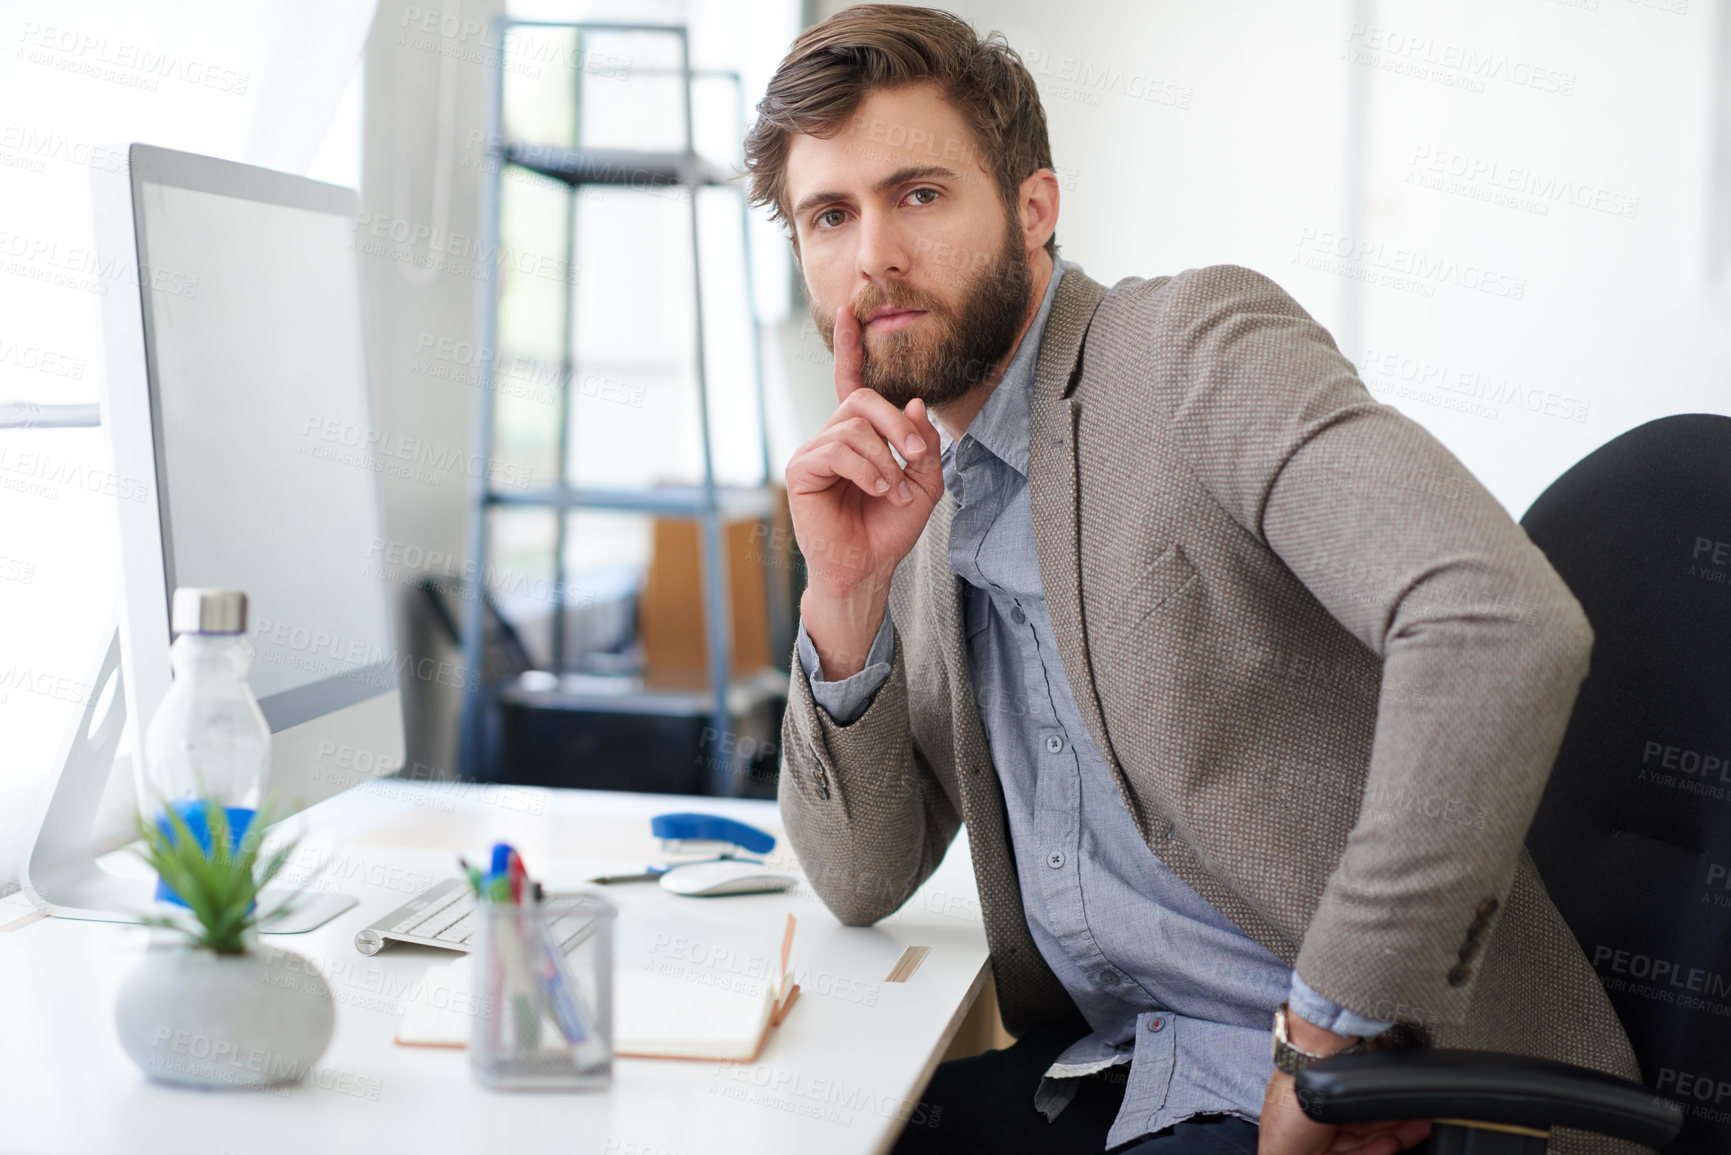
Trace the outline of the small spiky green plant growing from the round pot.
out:
<instances>
[{"instance_id":1,"label":"small spiky green plant growing from the round pot","mask_svg":"<svg viewBox=\"0 0 1731 1155\"><path fill-rule=\"evenodd\" d=\"M209 826L209 855L204 854L180 807L166 802L158 812L166 816L170 829L163 829L156 819L138 816L138 836L144 845L137 854L180 895L197 925L189 926L185 919L154 914L145 916L144 923L178 930L192 939L192 945L216 954L246 954L251 932L289 907L289 902L282 902L260 913L258 892L277 876L299 840L279 847L260 862L265 829L275 821L273 798L267 798L253 814L239 845L230 838L228 812L220 802L201 798L194 805L204 812Z\"/></svg>"}]
</instances>

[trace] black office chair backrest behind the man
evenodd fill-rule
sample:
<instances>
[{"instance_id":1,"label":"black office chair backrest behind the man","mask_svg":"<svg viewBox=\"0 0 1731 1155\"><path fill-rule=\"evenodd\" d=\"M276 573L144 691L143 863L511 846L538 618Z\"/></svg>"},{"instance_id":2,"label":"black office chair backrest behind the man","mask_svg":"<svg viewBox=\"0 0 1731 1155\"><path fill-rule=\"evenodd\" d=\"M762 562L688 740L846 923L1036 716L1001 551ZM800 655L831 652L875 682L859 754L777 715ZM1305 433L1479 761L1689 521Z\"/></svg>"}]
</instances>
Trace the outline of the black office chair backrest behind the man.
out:
<instances>
[{"instance_id":1,"label":"black office chair backrest behind the man","mask_svg":"<svg viewBox=\"0 0 1731 1155\"><path fill-rule=\"evenodd\" d=\"M1629 1030L1688 1103L1667 1155L1731 1152L1731 417L1650 421L1522 518L1593 623L1527 836Z\"/></svg>"}]
</instances>

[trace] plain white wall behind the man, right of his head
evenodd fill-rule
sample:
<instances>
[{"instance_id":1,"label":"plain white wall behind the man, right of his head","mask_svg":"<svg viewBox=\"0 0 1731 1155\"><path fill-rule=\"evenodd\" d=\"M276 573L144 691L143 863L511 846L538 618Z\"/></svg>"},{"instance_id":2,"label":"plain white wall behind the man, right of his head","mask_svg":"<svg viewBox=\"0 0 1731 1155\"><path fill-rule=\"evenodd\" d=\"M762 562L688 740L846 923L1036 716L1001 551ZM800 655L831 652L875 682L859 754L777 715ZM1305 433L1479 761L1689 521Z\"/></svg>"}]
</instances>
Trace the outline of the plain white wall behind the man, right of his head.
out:
<instances>
[{"instance_id":1,"label":"plain white wall behind the man, right of his head","mask_svg":"<svg viewBox=\"0 0 1731 1155\"><path fill-rule=\"evenodd\" d=\"M1035 74L1066 258L1269 274L1513 514L1643 421L1731 412L1722 0L949 7ZM822 346L784 348L810 436Z\"/></svg>"}]
</instances>

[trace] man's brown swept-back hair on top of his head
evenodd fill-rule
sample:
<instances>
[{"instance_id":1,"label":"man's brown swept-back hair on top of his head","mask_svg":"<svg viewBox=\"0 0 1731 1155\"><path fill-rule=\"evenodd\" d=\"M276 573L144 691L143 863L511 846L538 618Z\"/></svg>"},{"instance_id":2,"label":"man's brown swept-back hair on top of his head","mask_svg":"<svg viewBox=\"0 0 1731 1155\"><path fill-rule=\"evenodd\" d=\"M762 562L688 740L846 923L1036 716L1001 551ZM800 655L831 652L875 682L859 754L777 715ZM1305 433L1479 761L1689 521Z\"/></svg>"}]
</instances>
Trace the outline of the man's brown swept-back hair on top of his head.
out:
<instances>
[{"instance_id":1,"label":"man's brown swept-back hair on top of his head","mask_svg":"<svg viewBox=\"0 0 1731 1155\"><path fill-rule=\"evenodd\" d=\"M936 154L978 159L997 180L999 199L1014 220L1021 182L1052 166L1033 76L1001 33L981 40L957 16L900 3L857 3L793 42L746 133L751 203L769 206L793 232L789 140L800 133L834 137L871 92L921 81L936 83L975 133L973 142L962 142L973 158L957 158L956 142L933 142ZM1046 251L1058 253L1056 234Z\"/></svg>"}]
</instances>

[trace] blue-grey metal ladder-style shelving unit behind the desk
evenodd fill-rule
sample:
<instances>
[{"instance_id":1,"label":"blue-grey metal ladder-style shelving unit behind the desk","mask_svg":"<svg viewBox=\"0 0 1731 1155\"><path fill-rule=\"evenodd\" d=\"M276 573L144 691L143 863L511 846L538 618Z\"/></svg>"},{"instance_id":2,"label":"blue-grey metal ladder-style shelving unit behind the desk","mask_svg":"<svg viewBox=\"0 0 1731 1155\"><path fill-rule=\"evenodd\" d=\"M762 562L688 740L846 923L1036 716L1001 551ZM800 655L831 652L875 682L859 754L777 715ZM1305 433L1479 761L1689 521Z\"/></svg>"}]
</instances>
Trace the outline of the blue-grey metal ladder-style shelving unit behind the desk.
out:
<instances>
[{"instance_id":1,"label":"blue-grey metal ladder-style shelving unit behind the desk","mask_svg":"<svg viewBox=\"0 0 1731 1155\"><path fill-rule=\"evenodd\" d=\"M573 107L573 144L578 147L552 147L524 140L512 140L505 133L504 118L504 78L509 64L511 31L530 29L564 29L571 31L582 47L590 33L647 33L665 35L677 40L677 69L649 69L661 74L679 76L684 88L684 149L677 152L649 152L634 149L585 149L582 147L582 87L583 69L575 68L571 88ZM490 100L490 166L488 178L481 192L481 251L495 253L500 244L500 187L507 168L519 168L552 178L566 187L569 196L569 234L566 251L566 268L576 268L576 196L583 185L630 185L630 187L684 187L691 208L691 270L694 293L694 365L696 393L699 409L699 428L703 443L703 481L689 487L656 487L649 490L632 488L595 488L578 487L569 476L569 424L571 424L571 383L575 377L576 350L573 348L573 293L569 279L564 281L564 341L559 365L559 485L538 490L500 492L490 485L493 461L493 398L492 388L481 388L476 400L474 435L479 447L481 469L473 488L474 525L469 533L469 558L476 559L474 577L467 590L467 613L464 625L464 658L469 670L483 670L483 589L486 575L486 558L490 549L490 516L495 509L537 507L547 509L556 518L554 533L554 618L552 618L552 670L537 670L514 675L499 682L485 679L464 696L462 734L460 734L460 772L462 778L476 778L486 758L486 739L492 712L500 703L523 708L561 708L561 710L604 710L613 713L691 713L705 708L710 717L711 734L717 752L732 752L729 741L732 734L732 717L760 700L762 694L779 694L786 698L786 675L779 668L769 667L744 677L732 677L732 622L727 580L727 558L724 551L724 526L729 519L751 518L770 526L774 514L774 490L769 485L769 428L763 412L763 372L760 348L760 322L755 310L755 293L751 281L751 244L744 196L739 204L741 236L744 239L744 291L751 301L751 384L756 402L758 436L762 443L762 476L755 487L720 487L715 481L715 455L710 431L710 381L706 365L705 317L703 317L703 261L698 220L698 192L706 187L730 187L730 173L705 158L694 145L694 104L692 80L698 76L730 76L736 90L737 74L694 71L691 68L691 47L684 26L675 24L628 24L628 23L550 23L550 21L509 21L493 23L493 43L497 43L497 69L493 73L493 90ZM634 69L644 74L644 69ZM741 92L743 111L743 92ZM497 348L499 339L499 282L497 267L486 263L478 294L478 346ZM488 386L492 383L486 383ZM699 554L703 565L703 622L708 658L708 689L656 689L642 684L640 677L599 677L585 674L568 674L564 656L564 590L566 580L566 521L569 511L599 509L621 511L649 516L692 518L699 526ZM769 539L765 539L769 540ZM786 596L789 575L779 566L765 571L769 587L769 625L770 653L791 649L793 627L789 601ZM699 755L701 757L701 755ZM708 786L711 793L736 793L737 776L732 772L730 755L727 758L710 757Z\"/></svg>"}]
</instances>

